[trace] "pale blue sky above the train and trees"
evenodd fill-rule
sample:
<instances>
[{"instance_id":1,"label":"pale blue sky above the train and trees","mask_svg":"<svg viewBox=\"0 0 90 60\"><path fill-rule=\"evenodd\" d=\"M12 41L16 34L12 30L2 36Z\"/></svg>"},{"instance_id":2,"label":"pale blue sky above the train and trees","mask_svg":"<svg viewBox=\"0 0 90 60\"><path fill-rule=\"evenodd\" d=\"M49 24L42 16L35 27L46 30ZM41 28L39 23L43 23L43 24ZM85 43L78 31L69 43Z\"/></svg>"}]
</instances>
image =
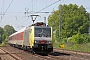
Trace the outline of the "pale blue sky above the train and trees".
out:
<instances>
[{"instance_id":1,"label":"pale blue sky above the train and trees","mask_svg":"<svg viewBox=\"0 0 90 60\"><path fill-rule=\"evenodd\" d=\"M83 5L90 12L90 0L0 0L0 27L11 25L18 31L33 23L31 15L34 12L53 12L58 9L59 4ZM50 14L35 13L39 15L35 22L43 22L44 17L48 18ZM48 23L47 19L46 22Z\"/></svg>"}]
</instances>

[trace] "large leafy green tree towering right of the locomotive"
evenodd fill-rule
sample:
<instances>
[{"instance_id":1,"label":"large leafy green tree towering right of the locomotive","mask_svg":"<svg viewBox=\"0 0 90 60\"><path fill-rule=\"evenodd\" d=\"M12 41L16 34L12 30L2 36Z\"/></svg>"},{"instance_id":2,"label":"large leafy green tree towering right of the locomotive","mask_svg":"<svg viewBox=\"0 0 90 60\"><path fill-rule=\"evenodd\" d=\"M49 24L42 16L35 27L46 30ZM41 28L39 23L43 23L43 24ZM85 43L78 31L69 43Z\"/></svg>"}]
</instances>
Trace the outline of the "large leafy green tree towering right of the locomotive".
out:
<instances>
[{"instance_id":1,"label":"large leafy green tree towering right of the locomotive","mask_svg":"<svg viewBox=\"0 0 90 60\"><path fill-rule=\"evenodd\" d=\"M59 5L60 6L60 5ZM77 33L88 33L89 14L85 8L76 4L62 6L62 38L69 38ZM53 27L56 40L59 37L60 8L48 17L48 24Z\"/></svg>"}]
</instances>

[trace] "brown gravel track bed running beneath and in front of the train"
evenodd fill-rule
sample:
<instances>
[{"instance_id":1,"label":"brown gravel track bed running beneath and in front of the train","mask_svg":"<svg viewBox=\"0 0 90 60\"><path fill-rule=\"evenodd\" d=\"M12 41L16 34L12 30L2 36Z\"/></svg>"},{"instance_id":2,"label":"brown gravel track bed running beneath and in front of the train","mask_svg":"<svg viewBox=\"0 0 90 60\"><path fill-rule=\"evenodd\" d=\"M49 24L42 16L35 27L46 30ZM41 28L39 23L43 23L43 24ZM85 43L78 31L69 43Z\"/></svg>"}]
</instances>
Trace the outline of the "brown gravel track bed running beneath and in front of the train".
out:
<instances>
[{"instance_id":1,"label":"brown gravel track bed running beneath and in front of the train","mask_svg":"<svg viewBox=\"0 0 90 60\"><path fill-rule=\"evenodd\" d=\"M9 45L4 47L3 49L9 51L10 56L13 54L20 58L20 59L17 58L13 60L90 60L89 54L88 56L84 56L84 55L80 55L79 52L71 52L71 51L60 50L60 49L54 49L54 52L48 55L42 55L42 54L33 55L28 51L23 51L23 50L11 47ZM7 55L9 54L9 52L0 53L0 56ZM82 53L82 54L85 54L85 53ZM11 57L13 58L13 56Z\"/></svg>"}]
</instances>

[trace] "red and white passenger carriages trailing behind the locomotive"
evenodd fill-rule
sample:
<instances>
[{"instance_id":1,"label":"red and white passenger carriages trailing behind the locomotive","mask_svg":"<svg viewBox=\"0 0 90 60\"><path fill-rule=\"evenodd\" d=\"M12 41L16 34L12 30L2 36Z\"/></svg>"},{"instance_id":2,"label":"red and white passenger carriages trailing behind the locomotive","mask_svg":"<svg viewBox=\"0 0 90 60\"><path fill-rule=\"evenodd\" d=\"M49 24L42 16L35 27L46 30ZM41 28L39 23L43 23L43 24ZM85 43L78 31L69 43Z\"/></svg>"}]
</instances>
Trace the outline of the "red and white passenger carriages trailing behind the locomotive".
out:
<instances>
[{"instance_id":1,"label":"red and white passenger carriages trailing behind the locomotive","mask_svg":"<svg viewBox=\"0 0 90 60\"><path fill-rule=\"evenodd\" d=\"M26 28L26 27L25 27ZM17 45L17 46L23 46L23 40L24 40L24 31L25 28L19 30L18 32L12 34L9 36L9 44Z\"/></svg>"}]
</instances>

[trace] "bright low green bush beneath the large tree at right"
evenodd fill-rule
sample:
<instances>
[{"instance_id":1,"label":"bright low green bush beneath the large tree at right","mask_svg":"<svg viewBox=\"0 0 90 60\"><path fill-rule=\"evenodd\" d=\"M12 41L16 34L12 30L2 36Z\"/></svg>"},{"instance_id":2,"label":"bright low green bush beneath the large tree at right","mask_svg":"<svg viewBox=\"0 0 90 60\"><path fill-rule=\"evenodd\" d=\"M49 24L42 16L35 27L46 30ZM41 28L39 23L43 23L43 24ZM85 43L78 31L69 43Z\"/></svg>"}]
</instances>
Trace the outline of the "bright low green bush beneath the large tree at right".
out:
<instances>
[{"instance_id":1,"label":"bright low green bush beneath the large tree at right","mask_svg":"<svg viewBox=\"0 0 90 60\"><path fill-rule=\"evenodd\" d=\"M84 44L84 43L87 43L89 42L89 37L88 37L88 34L76 34L76 35L73 35L71 39L69 39L68 42L70 43L73 43L73 44Z\"/></svg>"}]
</instances>

